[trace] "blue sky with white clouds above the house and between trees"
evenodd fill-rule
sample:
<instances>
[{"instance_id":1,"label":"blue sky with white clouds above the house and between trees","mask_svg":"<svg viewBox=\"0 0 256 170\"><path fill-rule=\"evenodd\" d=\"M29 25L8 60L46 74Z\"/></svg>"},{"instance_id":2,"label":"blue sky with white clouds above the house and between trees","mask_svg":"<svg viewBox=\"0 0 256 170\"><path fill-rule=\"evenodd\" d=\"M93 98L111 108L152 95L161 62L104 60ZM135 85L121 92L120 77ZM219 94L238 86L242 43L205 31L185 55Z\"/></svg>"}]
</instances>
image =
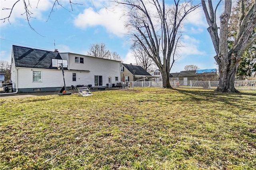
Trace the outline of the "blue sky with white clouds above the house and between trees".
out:
<instances>
[{"instance_id":1,"label":"blue sky with white clouds above the house and between trees","mask_svg":"<svg viewBox=\"0 0 256 170\"><path fill-rule=\"evenodd\" d=\"M2 8L10 8L15 1L0 0L0 18L9 15L9 12ZM135 63L130 49L131 42L123 25L125 18L120 17L122 8L115 7L109 1L74 0L74 3L84 5L72 5L72 11L69 1L60 0L67 10L56 6L47 21L53 1L40 0L36 8L37 2L38 0L30 0L34 17L30 19L30 24L42 36L31 30L24 16L20 15L24 7L22 1L18 2L10 17L10 23L7 20L5 23L0 21L1 60L10 62L12 45L54 51L55 41L55 48L60 52L84 55L90 44L105 43L107 49L116 51L124 63ZM200 69L216 68L213 58L215 51L206 30L208 26L202 9L190 14L184 24L180 58L176 60L171 72L180 72L184 70L185 65L197 65Z\"/></svg>"}]
</instances>

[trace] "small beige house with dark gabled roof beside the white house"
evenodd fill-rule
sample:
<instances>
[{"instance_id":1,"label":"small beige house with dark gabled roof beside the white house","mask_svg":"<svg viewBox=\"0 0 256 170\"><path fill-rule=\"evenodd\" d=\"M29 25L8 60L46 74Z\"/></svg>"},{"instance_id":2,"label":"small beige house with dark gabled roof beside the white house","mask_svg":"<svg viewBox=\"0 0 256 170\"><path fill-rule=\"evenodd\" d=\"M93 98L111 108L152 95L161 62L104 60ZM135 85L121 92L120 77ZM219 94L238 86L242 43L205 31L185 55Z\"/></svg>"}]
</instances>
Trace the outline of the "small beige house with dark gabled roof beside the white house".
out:
<instances>
[{"instance_id":1,"label":"small beige house with dark gabled roof beside the white house","mask_svg":"<svg viewBox=\"0 0 256 170\"><path fill-rule=\"evenodd\" d=\"M152 75L141 66L121 63L121 81L152 81Z\"/></svg>"}]
</instances>

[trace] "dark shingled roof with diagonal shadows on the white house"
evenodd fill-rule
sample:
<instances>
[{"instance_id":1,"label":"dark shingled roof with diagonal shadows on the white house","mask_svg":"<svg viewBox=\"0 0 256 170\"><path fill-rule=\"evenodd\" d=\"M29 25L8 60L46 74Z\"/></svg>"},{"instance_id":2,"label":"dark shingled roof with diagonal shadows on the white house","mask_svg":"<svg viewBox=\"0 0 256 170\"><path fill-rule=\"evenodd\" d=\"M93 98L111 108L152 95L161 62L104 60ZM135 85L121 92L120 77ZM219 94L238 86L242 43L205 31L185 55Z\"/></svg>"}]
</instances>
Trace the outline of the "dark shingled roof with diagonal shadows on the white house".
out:
<instances>
[{"instance_id":1,"label":"dark shingled roof with diagonal shadows on the white house","mask_svg":"<svg viewBox=\"0 0 256 170\"><path fill-rule=\"evenodd\" d=\"M16 67L58 69L57 67L52 67L52 59L62 59L58 52L16 45L12 45L12 49Z\"/></svg>"}]
</instances>

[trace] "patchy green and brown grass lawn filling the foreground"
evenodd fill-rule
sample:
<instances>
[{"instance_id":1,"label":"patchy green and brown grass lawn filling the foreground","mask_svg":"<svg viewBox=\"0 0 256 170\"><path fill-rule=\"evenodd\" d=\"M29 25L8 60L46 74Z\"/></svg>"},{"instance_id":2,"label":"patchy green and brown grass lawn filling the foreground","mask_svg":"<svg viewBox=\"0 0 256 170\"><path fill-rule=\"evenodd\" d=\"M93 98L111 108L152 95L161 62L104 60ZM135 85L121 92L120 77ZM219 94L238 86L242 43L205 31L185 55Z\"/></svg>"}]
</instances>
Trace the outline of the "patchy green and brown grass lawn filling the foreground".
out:
<instances>
[{"instance_id":1,"label":"patchy green and brown grass lawn filling the foreground","mask_svg":"<svg viewBox=\"0 0 256 170\"><path fill-rule=\"evenodd\" d=\"M0 169L256 169L256 91L0 99Z\"/></svg>"}]
</instances>

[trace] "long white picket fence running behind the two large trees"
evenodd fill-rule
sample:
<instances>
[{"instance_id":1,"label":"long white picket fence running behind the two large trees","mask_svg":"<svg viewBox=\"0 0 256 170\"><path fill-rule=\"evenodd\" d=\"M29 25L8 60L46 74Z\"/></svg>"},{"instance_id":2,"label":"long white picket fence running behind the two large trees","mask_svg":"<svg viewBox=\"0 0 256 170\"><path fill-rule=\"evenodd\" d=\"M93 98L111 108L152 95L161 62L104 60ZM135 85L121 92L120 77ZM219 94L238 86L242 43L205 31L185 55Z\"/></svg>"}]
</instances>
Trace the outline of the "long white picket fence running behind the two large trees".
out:
<instances>
[{"instance_id":1,"label":"long white picket fence running behind the two large trees","mask_svg":"<svg viewBox=\"0 0 256 170\"><path fill-rule=\"evenodd\" d=\"M162 87L162 81L131 81L133 87ZM195 89L216 89L219 81L170 81L172 87L186 87ZM256 80L235 81L238 90L256 90Z\"/></svg>"}]
</instances>

